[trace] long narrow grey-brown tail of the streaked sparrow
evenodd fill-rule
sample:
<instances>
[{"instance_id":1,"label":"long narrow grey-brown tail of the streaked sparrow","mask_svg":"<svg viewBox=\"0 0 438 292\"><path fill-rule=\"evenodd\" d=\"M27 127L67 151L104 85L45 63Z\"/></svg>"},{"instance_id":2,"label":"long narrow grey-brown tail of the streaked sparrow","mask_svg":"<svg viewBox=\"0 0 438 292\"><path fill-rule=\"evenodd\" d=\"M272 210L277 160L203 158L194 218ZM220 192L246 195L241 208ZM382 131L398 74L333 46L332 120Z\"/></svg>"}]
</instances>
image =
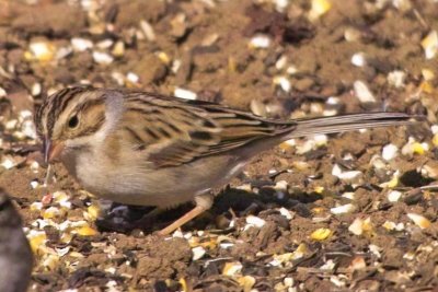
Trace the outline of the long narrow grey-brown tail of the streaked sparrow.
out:
<instances>
[{"instance_id":1,"label":"long narrow grey-brown tail of the streaked sparrow","mask_svg":"<svg viewBox=\"0 0 438 292\"><path fill-rule=\"evenodd\" d=\"M377 127L412 125L419 119L423 118L404 113L388 112L299 119L296 120L296 128L287 136L287 139L318 133L335 133Z\"/></svg>"}]
</instances>

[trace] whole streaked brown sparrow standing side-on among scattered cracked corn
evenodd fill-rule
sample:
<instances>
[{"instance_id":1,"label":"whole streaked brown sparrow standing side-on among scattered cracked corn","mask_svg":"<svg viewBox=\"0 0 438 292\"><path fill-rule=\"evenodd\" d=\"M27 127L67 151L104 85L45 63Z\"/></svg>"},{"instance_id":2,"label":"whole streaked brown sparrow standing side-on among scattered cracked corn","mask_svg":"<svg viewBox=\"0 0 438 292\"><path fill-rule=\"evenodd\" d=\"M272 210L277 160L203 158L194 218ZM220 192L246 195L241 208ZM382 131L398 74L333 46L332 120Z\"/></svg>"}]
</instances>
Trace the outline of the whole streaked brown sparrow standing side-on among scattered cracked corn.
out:
<instances>
[{"instance_id":1,"label":"whole streaked brown sparrow standing side-on among scattered cracked corn","mask_svg":"<svg viewBox=\"0 0 438 292\"><path fill-rule=\"evenodd\" d=\"M46 162L59 159L90 192L116 202L196 207L169 234L205 210L210 190L285 140L314 133L408 124L403 113L272 120L223 105L154 93L70 87L35 115Z\"/></svg>"}]
</instances>

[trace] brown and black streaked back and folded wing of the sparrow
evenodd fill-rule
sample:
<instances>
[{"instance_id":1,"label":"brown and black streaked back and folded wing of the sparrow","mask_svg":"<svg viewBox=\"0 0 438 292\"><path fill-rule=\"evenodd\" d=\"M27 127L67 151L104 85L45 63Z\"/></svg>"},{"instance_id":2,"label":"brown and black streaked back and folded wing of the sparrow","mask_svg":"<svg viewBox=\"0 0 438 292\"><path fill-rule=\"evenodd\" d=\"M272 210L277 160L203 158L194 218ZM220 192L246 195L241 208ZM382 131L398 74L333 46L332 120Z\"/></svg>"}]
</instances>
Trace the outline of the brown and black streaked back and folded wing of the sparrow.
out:
<instances>
[{"instance_id":1,"label":"brown and black streaked back and folded wing of the sparrow","mask_svg":"<svg viewBox=\"0 0 438 292\"><path fill-rule=\"evenodd\" d=\"M125 104L125 128L155 167L176 166L237 149L289 131L295 125L272 122L216 104L193 105L151 95L130 96Z\"/></svg>"}]
</instances>

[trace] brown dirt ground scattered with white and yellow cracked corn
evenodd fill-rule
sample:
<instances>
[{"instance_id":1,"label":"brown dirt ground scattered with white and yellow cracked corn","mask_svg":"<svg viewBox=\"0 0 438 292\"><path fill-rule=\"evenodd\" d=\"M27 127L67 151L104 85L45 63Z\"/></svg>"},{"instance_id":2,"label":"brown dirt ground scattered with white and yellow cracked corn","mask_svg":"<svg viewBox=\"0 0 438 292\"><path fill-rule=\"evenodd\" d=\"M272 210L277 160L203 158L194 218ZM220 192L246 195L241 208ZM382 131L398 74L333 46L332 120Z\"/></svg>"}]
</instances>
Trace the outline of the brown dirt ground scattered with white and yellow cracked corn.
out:
<instances>
[{"instance_id":1,"label":"brown dirt ground scattered with white and yellow cracked corn","mask_svg":"<svg viewBox=\"0 0 438 292\"><path fill-rule=\"evenodd\" d=\"M30 291L437 291L437 15L433 0L0 1L0 187L35 253ZM284 143L163 238L191 205L114 231L147 210L96 221L61 165L44 185L31 114L79 83L427 121Z\"/></svg>"}]
</instances>

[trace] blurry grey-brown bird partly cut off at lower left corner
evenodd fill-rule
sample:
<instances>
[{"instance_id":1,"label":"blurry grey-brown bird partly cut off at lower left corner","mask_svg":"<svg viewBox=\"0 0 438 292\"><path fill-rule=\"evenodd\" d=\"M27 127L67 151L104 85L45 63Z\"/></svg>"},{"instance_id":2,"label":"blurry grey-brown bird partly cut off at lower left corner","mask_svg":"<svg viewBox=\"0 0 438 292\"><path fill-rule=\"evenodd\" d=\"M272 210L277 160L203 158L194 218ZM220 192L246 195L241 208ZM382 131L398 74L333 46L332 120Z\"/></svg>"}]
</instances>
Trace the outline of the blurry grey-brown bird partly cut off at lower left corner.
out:
<instances>
[{"instance_id":1,"label":"blurry grey-brown bird partly cut off at lower left corner","mask_svg":"<svg viewBox=\"0 0 438 292\"><path fill-rule=\"evenodd\" d=\"M21 217L8 195L0 190L0 291L27 291L32 266L33 254Z\"/></svg>"}]
</instances>

